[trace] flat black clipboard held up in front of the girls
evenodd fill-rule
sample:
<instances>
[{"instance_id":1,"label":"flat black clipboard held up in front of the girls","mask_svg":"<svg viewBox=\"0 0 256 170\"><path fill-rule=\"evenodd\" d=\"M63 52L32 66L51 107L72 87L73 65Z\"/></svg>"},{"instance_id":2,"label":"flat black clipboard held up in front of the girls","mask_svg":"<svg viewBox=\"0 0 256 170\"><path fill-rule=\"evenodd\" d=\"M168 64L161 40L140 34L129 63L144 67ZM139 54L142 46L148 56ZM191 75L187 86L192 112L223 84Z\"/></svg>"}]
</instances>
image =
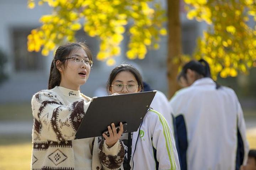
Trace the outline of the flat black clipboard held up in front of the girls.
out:
<instances>
[{"instance_id":1,"label":"flat black clipboard held up in front of the girls","mask_svg":"<svg viewBox=\"0 0 256 170\"><path fill-rule=\"evenodd\" d=\"M112 122L127 123L127 132L137 131L156 91L93 97L75 139L102 136Z\"/></svg>"}]
</instances>

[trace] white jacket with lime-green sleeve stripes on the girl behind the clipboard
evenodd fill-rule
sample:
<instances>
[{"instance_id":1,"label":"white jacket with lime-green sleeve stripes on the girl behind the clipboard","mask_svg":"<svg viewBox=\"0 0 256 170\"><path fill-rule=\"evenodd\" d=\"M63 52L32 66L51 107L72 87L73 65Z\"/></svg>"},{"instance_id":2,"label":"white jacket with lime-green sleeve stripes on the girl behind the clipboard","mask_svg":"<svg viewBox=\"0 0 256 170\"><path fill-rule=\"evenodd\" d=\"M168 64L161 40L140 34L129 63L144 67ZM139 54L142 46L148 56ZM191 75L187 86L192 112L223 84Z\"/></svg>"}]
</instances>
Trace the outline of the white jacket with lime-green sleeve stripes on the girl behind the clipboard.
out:
<instances>
[{"instance_id":1,"label":"white jacket with lime-green sleeve stripes on the girl behind the clipboard","mask_svg":"<svg viewBox=\"0 0 256 170\"><path fill-rule=\"evenodd\" d=\"M138 131L133 132L133 170L180 170L174 137L165 118L150 109Z\"/></svg>"}]
</instances>

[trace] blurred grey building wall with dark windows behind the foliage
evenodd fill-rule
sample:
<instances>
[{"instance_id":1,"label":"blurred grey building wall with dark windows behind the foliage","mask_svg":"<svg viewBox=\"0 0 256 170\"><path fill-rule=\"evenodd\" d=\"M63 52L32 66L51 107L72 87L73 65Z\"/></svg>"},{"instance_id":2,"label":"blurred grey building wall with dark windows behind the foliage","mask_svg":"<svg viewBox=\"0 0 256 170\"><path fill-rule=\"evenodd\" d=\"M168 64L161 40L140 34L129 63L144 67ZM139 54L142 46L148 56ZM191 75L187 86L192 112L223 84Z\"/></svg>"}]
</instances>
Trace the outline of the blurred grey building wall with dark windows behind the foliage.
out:
<instances>
[{"instance_id":1,"label":"blurred grey building wall with dark windows behind the foliage","mask_svg":"<svg viewBox=\"0 0 256 170\"><path fill-rule=\"evenodd\" d=\"M165 2L162 0L164 5ZM36 5L34 9L28 9L26 0L0 1L0 49L8 56L5 70L9 76L7 81L0 84L0 103L29 102L35 92L47 89L53 53L44 57L40 53L27 52L26 42L30 31L41 26L39 18L49 14L50 11L51 9L47 5ZM188 21L183 12L181 12L181 21L183 52L191 54L197 36L202 34L206 25ZM97 38L91 38L82 31L78 32L76 36L78 41L86 41L93 55L97 55L99 43ZM129 38L127 35L124 37L121 45L122 55L116 57L116 65L124 61L130 62L125 57ZM161 38L159 50L148 51L144 60L132 61L143 72L143 79L154 89L163 92L167 92L166 56L167 36L164 36ZM108 67L100 61L94 60L94 62L90 78L81 87L81 92L91 97L98 87L105 87L108 75L114 67Z\"/></svg>"}]
</instances>

